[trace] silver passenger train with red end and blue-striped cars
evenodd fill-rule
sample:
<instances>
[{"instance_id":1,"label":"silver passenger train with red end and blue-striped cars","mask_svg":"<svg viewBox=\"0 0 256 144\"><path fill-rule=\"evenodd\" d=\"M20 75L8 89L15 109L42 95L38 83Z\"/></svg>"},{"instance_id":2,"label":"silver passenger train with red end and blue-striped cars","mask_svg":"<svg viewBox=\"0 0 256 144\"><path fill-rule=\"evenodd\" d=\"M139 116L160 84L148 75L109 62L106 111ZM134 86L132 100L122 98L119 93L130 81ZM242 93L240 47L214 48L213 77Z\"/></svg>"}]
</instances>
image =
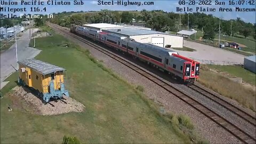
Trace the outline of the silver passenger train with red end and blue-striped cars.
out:
<instances>
[{"instance_id":1,"label":"silver passenger train with red end and blue-striped cars","mask_svg":"<svg viewBox=\"0 0 256 144\"><path fill-rule=\"evenodd\" d=\"M199 78L199 62L182 57L175 51L149 43L139 43L131 38L103 33L100 30L88 29L82 26L71 26L70 31L129 53L134 58L145 60L176 78L182 79L183 82L194 83Z\"/></svg>"}]
</instances>

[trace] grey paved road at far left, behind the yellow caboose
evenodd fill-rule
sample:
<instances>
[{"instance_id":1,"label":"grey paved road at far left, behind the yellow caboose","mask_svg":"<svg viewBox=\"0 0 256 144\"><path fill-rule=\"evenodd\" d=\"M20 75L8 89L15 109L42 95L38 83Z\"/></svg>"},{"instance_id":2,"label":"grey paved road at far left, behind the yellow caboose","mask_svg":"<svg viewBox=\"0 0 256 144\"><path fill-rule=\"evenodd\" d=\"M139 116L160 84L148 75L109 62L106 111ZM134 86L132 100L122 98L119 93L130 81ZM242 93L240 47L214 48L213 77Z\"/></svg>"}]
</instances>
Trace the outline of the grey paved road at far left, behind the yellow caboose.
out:
<instances>
[{"instance_id":1,"label":"grey paved road at far left, behind the yellow caboose","mask_svg":"<svg viewBox=\"0 0 256 144\"><path fill-rule=\"evenodd\" d=\"M33 30L31 29L31 33ZM30 41L29 30L26 30L23 33L24 34L17 41L18 60L34 58L41 51L28 46ZM15 71L13 67L17 69L15 44L12 45L10 49L2 52L0 55L0 58L1 58L0 70L1 70L1 89L2 89L3 85L5 84L5 83L2 83L4 79L7 78L9 75L11 75Z\"/></svg>"}]
</instances>

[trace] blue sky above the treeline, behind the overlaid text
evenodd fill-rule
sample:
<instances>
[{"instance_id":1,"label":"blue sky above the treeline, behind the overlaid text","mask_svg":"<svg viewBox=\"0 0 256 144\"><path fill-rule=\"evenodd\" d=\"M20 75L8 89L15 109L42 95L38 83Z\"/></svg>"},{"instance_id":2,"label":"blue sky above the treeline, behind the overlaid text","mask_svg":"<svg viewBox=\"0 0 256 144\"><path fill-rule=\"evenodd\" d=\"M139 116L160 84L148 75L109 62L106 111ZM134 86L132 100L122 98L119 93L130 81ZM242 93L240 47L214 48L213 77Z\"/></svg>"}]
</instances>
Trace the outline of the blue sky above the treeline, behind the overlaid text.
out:
<instances>
[{"instance_id":1,"label":"blue sky above the treeline, behind the overlaid text","mask_svg":"<svg viewBox=\"0 0 256 144\"><path fill-rule=\"evenodd\" d=\"M3 1L3 0L1 0ZM30 1L30 0L27 0ZM57 0L58 2L60 2L61 0ZM65 0L63 0L64 2ZM68 0L66 0L68 1ZM26 7L27 12L1 12L1 14L17 14L18 16L20 15L20 13L26 13L26 14L35 14L35 13L39 13L39 14L50 14L50 13L58 13L58 12L63 12L63 11L100 11L101 9L108 9L108 10L121 10L121 11L125 11L125 10L142 10L142 9L146 9L146 10L163 10L163 11L167 11L167 12L175 12L175 13L184 13L184 12L177 12L177 7L180 7L181 9L193 9L193 12L196 12L196 7L202 7L202 8L209 8L209 9L213 9L215 8L216 11L215 12L203 12L206 14L213 14L215 17L218 18L222 18L225 20L229 20L229 19L236 19L236 18L241 18L242 20L244 20L245 22L251 22L251 23L255 23L255 11L254 12L236 12L235 11L235 7L239 7L239 8L254 8L255 9L255 5L256 2L254 1L254 5L250 5L247 1L247 3L245 2L243 5L238 5L236 4L238 1L233 1L234 5L229 5L229 1L218 1L218 2L225 2L225 5L215 5L215 1L212 1L211 4L212 5L199 5L198 3L195 5L189 5L188 2L185 5L180 5L182 1L178 0L169 0L169 1L161 1L161 0L155 0L155 1L147 1L147 0L143 0L143 1L136 1L136 0L130 0L129 2L154 2L154 5L99 5L98 1L85 1L83 0L83 5L74 5L74 0L69 0L69 2L71 3L71 5L47 5L47 1L41 1L44 2L44 5L21 5L21 1L15 1L18 2L18 5L1 5L1 7L5 7L7 9L7 7L9 8L24 8ZM9 2L9 1L5 1L5 2ZM38 1L37 1L38 2ZM54 2L54 1L53 1ZM78 1L79 2L79 1ZM111 2L111 1L104 1L104 2ZM116 2L116 1L115 1ZM123 1L123 2L127 2L127 0ZM195 2L199 2L199 1L195 1ZM40 10L42 10L42 12L30 12L31 7L39 7ZM43 11L43 8L46 7L46 12ZM232 12L220 12L219 9L221 8L230 8L233 11ZM190 12L191 13L191 12Z\"/></svg>"}]
</instances>

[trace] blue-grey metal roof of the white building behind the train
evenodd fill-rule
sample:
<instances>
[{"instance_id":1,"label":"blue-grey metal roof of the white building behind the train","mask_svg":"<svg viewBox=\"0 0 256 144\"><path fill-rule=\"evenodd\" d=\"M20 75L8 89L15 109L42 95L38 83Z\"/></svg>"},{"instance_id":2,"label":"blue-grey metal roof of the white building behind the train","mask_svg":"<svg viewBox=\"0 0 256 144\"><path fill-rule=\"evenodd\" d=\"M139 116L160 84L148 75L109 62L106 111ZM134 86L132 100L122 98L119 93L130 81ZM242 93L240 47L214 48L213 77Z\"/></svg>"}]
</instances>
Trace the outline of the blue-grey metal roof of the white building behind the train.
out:
<instances>
[{"instance_id":1,"label":"blue-grey metal roof of the white building behind the train","mask_svg":"<svg viewBox=\"0 0 256 144\"><path fill-rule=\"evenodd\" d=\"M116 33L116 34L121 34L124 36L136 36L136 35L149 35L149 34L164 34L164 35L170 35L166 33L162 33L160 31L155 31L155 30L149 30L149 29L140 29L140 28L109 28L109 29L104 29L106 31L109 31L111 33Z\"/></svg>"}]
</instances>

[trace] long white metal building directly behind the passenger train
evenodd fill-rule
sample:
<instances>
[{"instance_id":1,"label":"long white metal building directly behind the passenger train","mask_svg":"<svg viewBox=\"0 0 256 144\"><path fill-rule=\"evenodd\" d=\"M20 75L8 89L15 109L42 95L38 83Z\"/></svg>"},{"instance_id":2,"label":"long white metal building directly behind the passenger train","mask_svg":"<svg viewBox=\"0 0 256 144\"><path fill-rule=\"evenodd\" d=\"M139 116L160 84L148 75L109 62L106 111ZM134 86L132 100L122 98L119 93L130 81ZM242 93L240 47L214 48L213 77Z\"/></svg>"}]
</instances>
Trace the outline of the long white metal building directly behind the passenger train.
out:
<instances>
[{"instance_id":1,"label":"long white metal building directly behind the passenger train","mask_svg":"<svg viewBox=\"0 0 256 144\"><path fill-rule=\"evenodd\" d=\"M109 23L94 23L89 25L83 25L87 28L101 30L106 33L114 33L117 35L129 37L135 39L140 43L151 43L161 47L183 47L183 37L177 35L171 35L162 33L159 31L151 30L145 27L135 26L119 26L111 25Z\"/></svg>"}]
</instances>

